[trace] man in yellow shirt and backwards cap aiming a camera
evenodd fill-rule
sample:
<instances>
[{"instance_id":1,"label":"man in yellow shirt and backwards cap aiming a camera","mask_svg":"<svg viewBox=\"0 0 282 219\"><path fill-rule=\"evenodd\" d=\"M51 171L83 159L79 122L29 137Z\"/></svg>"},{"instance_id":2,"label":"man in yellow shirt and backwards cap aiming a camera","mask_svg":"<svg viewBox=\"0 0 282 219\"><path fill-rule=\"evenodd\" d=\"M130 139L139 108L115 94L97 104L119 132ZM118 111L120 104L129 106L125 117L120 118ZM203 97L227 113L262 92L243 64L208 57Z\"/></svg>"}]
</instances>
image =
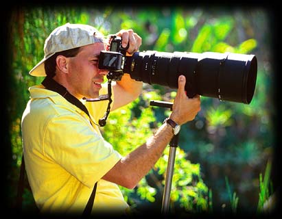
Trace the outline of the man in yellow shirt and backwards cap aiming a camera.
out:
<instances>
[{"instance_id":1,"label":"man in yellow shirt and backwards cap aiming a camera","mask_svg":"<svg viewBox=\"0 0 282 219\"><path fill-rule=\"evenodd\" d=\"M131 29L116 35L121 36L124 47L129 44L128 54L141 46L140 36ZM104 37L97 29L67 23L51 32L45 40L45 57L30 70L30 75L46 76L42 85L30 88L22 118L27 178L43 213L82 214L94 192L92 214L126 214L130 207L118 185L134 188L176 134L174 123L183 125L200 110L200 96L188 99L185 77L180 76L170 120L122 157L99 131L98 120L108 101L84 101L108 92L102 88L108 72L98 68L99 53L104 49ZM125 73L113 84L110 109L130 103L141 90L142 82Z\"/></svg>"}]
</instances>

